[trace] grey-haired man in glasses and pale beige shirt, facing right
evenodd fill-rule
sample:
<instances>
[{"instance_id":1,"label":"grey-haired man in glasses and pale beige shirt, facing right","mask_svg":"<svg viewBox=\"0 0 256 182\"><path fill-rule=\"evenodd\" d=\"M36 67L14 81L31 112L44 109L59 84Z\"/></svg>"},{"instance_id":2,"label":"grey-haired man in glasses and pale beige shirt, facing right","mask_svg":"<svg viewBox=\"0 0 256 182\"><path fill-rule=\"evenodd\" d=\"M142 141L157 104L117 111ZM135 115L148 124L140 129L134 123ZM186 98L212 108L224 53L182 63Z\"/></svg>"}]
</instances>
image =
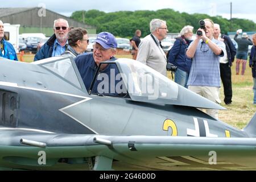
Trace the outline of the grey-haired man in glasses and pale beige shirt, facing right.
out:
<instances>
[{"instance_id":1,"label":"grey-haired man in glasses and pale beige shirt, facing right","mask_svg":"<svg viewBox=\"0 0 256 182\"><path fill-rule=\"evenodd\" d=\"M166 76L167 59L161 45L161 41L167 37L166 21L152 19L150 32L151 34L147 35L139 44L137 60Z\"/></svg>"}]
</instances>

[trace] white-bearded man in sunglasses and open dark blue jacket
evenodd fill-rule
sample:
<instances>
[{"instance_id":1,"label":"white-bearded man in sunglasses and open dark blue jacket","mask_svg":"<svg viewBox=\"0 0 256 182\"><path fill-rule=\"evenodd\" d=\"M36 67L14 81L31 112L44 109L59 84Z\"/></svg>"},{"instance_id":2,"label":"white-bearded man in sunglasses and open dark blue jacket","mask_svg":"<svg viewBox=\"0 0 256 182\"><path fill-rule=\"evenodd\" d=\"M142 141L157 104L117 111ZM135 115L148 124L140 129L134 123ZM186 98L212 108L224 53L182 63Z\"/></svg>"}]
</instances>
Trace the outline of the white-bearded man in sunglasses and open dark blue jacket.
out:
<instances>
[{"instance_id":1,"label":"white-bearded man in sunglasses and open dark blue jacket","mask_svg":"<svg viewBox=\"0 0 256 182\"><path fill-rule=\"evenodd\" d=\"M54 34L36 53L34 61L48 57L59 56L68 48L68 21L62 18L56 19L53 24Z\"/></svg>"}]
</instances>

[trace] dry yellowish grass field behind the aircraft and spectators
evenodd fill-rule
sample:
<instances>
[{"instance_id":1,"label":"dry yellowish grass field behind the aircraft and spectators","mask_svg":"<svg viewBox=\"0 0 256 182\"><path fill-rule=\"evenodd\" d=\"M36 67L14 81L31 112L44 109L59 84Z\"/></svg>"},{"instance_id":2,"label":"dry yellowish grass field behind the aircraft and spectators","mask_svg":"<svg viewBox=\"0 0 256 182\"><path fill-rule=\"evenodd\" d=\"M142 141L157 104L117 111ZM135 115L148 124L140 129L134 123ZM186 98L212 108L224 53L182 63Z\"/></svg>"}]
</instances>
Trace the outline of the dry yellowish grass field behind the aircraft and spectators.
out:
<instances>
[{"instance_id":1,"label":"dry yellowish grass field behind the aircraft and spectators","mask_svg":"<svg viewBox=\"0 0 256 182\"><path fill-rule=\"evenodd\" d=\"M131 55L117 55L116 57L131 58ZM31 62L34 60L34 55L24 55L23 59L26 62ZM221 105L228 110L220 110L219 119L242 129L253 117L256 112L256 106L253 105L253 78L251 77L251 68L249 68L249 64L247 63L245 75L236 75L235 61L232 67L233 102L232 105L225 105L223 101L223 87L221 87Z\"/></svg>"}]
</instances>

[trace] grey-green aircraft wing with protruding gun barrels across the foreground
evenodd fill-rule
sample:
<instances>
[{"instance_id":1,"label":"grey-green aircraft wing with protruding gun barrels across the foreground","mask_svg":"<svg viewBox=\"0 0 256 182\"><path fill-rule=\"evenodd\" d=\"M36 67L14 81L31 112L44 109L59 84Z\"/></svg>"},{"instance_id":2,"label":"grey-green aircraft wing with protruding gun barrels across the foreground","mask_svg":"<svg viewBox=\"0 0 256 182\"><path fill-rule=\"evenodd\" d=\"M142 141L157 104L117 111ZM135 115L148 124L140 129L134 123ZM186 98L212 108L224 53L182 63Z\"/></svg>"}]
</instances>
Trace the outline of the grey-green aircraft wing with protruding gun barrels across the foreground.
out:
<instances>
[{"instance_id":1,"label":"grey-green aircraft wing with protruding gun barrels across the foreground","mask_svg":"<svg viewBox=\"0 0 256 182\"><path fill-rule=\"evenodd\" d=\"M255 138L0 133L0 166L22 169L256 169ZM21 140L22 139L22 140ZM46 157L42 162L43 154ZM97 159L95 163L89 159ZM41 161L42 160L42 161ZM40 162L41 161L41 162Z\"/></svg>"}]
</instances>

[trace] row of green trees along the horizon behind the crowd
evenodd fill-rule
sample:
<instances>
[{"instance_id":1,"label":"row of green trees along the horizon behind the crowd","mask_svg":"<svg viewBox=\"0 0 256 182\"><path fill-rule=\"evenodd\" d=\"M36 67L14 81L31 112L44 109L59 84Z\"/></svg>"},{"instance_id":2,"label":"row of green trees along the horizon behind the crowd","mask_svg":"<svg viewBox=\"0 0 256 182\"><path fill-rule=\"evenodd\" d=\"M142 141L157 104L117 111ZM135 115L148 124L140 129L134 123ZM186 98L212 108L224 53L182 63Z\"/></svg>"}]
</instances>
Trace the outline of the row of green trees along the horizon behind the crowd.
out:
<instances>
[{"instance_id":1,"label":"row of green trees along the horizon behind the crowd","mask_svg":"<svg viewBox=\"0 0 256 182\"><path fill-rule=\"evenodd\" d=\"M80 22L85 20L97 28L97 33L101 31L112 32L115 36L131 38L135 30L142 31L142 37L150 34L149 23L151 19L159 18L166 20L169 32L180 32L186 25L194 27L194 33L199 28L199 20L209 18L214 23L220 24L221 32L226 34L229 31L236 31L242 28L243 31L255 31L256 23L247 19L233 18L230 20L221 16L209 16L207 14L188 14L179 13L172 9L162 9L157 11L139 10L139 11L117 11L105 13L99 10L75 11L71 18Z\"/></svg>"}]
</instances>

